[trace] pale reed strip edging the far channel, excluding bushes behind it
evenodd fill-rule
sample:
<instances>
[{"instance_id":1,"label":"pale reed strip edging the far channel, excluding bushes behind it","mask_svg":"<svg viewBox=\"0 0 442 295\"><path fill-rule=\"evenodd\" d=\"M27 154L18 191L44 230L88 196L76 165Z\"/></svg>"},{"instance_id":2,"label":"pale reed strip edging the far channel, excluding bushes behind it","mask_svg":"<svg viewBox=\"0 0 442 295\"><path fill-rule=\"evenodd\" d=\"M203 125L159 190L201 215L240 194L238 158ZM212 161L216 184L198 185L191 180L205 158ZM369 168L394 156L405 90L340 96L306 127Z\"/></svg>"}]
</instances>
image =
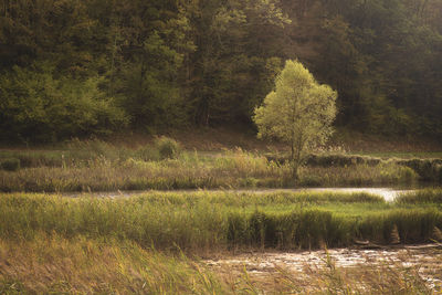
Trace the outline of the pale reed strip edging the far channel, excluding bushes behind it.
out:
<instances>
[{"instance_id":1,"label":"pale reed strip edging the far channel, excluding bushes behind it","mask_svg":"<svg viewBox=\"0 0 442 295\"><path fill-rule=\"evenodd\" d=\"M196 188L287 188L317 186L375 186L411 183L418 176L393 162L378 166L304 167L299 180L290 165L240 149L201 157L183 152L175 159L112 160L97 157L87 165L24 168L0 171L0 191L67 192Z\"/></svg>"}]
</instances>

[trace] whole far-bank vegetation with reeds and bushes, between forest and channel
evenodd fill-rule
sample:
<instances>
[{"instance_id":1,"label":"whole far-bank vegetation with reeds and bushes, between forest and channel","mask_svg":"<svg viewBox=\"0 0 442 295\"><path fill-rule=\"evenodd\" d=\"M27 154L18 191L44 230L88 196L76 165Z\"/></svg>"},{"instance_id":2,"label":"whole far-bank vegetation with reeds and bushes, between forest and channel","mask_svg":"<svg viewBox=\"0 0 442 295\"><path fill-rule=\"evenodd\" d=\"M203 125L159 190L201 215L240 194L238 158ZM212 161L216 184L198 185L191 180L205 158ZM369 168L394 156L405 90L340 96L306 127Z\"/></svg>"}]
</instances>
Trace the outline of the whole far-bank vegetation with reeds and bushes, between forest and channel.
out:
<instances>
[{"instance_id":1,"label":"whole far-bank vegetation with reeds and bushes, between forest and channel","mask_svg":"<svg viewBox=\"0 0 442 295\"><path fill-rule=\"evenodd\" d=\"M307 158L294 179L291 162L281 156L240 148L217 154L180 151L176 143L158 146L161 140L138 148L76 140L62 150L1 151L2 167L15 166L0 170L0 191L398 186L420 180L438 183L441 173L441 165L430 160L325 154Z\"/></svg>"}]
</instances>

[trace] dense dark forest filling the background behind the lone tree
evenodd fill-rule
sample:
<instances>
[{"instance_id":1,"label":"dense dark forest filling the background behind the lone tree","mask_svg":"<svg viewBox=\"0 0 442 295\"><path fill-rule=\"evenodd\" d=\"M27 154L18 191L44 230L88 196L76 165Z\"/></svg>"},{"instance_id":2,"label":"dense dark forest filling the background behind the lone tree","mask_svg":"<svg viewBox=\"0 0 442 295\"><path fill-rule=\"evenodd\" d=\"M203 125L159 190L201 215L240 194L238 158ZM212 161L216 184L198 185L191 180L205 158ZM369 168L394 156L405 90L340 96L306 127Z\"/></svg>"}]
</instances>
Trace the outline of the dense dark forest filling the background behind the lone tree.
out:
<instances>
[{"instance_id":1,"label":"dense dark forest filling the background behind the lone tree","mask_svg":"<svg viewBox=\"0 0 442 295\"><path fill-rule=\"evenodd\" d=\"M251 124L287 59L336 124L442 136L439 0L1 0L0 137Z\"/></svg>"}]
</instances>

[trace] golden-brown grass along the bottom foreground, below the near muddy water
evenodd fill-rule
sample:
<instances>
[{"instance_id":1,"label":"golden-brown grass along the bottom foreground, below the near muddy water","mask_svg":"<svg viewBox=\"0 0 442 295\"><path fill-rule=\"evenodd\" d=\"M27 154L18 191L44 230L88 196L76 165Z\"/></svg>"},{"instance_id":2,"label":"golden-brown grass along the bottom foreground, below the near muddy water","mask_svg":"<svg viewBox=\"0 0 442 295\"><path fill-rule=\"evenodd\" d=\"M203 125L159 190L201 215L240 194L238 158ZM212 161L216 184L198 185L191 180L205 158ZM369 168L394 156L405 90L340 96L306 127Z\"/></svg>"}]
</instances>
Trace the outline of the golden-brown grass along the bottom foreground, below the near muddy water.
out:
<instances>
[{"instance_id":1,"label":"golden-brown grass along the bottom foreground, below the near muddy water","mask_svg":"<svg viewBox=\"0 0 442 295\"><path fill-rule=\"evenodd\" d=\"M255 255L255 259L259 255ZM208 267L185 255L165 255L130 241L0 239L1 294L438 294L422 268L403 261L339 267L326 254L303 271L265 273L232 265ZM380 257L381 260L382 257ZM433 260L440 265L440 259ZM249 270L248 270L249 268ZM439 268L435 266L434 272ZM436 278L440 274L435 273Z\"/></svg>"}]
</instances>

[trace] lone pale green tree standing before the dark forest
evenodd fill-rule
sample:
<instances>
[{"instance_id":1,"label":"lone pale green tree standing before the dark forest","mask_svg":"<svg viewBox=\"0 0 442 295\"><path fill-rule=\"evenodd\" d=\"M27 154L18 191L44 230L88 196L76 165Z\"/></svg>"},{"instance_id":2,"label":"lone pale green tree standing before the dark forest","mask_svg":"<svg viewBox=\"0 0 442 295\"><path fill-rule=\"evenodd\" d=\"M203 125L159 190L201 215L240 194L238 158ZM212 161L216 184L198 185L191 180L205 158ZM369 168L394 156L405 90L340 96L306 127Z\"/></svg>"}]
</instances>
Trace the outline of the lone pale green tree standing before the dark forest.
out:
<instances>
[{"instance_id":1,"label":"lone pale green tree standing before the dark forest","mask_svg":"<svg viewBox=\"0 0 442 295\"><path fill-rule=\"evenodd\" d=\"M255 109L259 137L275 137L292 149L294 175L305 154L332 135L337 93L318 84L297 61L287 61L275 91Z\"/></svg>"}]
</instances>

